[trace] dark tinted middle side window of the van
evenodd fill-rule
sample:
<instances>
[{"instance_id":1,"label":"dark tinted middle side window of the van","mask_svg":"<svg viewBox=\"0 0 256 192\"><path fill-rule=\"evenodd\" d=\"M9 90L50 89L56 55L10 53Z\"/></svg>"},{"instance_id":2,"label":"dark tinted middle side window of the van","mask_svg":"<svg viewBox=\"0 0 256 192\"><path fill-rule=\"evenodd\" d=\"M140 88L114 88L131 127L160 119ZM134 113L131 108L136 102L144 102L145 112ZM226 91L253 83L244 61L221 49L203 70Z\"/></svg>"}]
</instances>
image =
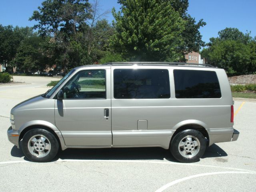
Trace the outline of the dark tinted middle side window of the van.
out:
<instances>
[{"instance_id":1,"label":"dark tinted middle side window of the van","mask_svg":"<svg viewBox=\"0 0 256 192\"><path fill-rule=\"evenodd\" d=\"M170 98L169 72L166 69L115 69L114 98Z\"/></svg>"}]
</instances>

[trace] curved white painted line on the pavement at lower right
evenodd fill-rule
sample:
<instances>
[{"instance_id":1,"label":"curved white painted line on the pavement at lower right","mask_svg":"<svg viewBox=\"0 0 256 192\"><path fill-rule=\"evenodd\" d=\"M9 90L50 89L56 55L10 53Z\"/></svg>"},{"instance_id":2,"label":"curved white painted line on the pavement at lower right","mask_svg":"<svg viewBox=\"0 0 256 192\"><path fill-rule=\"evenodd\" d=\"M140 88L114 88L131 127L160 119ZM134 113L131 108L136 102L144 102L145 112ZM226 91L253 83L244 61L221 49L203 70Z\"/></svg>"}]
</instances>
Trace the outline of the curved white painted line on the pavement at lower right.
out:
<instances>
[{"instance_id":1,"label":"curved white painted line on the pavement at lower right","mask_svg":"<svg viewBox=\"0 0 256 192\"><path fill-rule=\"evenodd\" d=\"M173 186L173 185L180 183L182 181L185 181L185 180L189 180L189 179L196 178L196 177L208 176L208 175L217 175L217 174L256 174L256 172L225 171L225 172L212 172L212 173L196 174L196 175L192 175L192 176L188 176L188 177L184 177L184 178L172 181L172 182L162 186L155 192L162 192L162 191L166 190L167 188L169 188L170 186Z\"/></svg>"}]
</instances>

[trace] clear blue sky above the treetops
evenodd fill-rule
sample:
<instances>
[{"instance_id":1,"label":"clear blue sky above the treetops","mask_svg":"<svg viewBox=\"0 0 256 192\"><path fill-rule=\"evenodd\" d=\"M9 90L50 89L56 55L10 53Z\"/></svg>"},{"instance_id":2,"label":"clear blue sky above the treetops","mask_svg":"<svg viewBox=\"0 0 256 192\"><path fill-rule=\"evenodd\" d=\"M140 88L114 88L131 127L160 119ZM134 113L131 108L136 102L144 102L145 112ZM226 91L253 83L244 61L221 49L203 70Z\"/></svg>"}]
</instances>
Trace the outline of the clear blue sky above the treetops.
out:
<instances>
[{"instance_id":1,"label":"clear blue sky above the treetops","mask_svg":"<svg viewBox=\"0 0 256 192\"><path fill-rule=\"evenodd\" d=\"M0 0L0 24L34 26L36 22L28 18L42 1ZM102 11L120 8L117 0L100 0L100 5ZM252 37L256 36L256 0L189 0L188 14L197 21L204 19L206 22L206 26L200 28L205 42L209 42L210 37L217 37L218 31L226 27L235 27L244 33L248 30ZM111 13L107 19L113 20Z\"/></svg>"}]
</instances>

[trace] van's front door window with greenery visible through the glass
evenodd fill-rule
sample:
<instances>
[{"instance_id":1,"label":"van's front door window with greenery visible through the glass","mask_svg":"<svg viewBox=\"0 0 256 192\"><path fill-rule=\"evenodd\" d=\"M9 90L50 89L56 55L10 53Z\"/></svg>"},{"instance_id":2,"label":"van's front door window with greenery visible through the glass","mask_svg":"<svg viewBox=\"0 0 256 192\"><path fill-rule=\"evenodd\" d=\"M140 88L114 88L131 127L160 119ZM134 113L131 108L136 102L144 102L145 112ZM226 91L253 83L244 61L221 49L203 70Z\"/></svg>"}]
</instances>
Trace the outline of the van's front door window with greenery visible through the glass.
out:
<instances>
[{"instance_id":1,"label":"van's front door window with greenery visible through the glass","mask_svg":"<svg viewBox=\"0 0 256 192\"><path fill-rule=\"evenodd\" d=\"M106 70L84 70L62 88L64 99L106 99Z\"/></svg>"}]
</instances>

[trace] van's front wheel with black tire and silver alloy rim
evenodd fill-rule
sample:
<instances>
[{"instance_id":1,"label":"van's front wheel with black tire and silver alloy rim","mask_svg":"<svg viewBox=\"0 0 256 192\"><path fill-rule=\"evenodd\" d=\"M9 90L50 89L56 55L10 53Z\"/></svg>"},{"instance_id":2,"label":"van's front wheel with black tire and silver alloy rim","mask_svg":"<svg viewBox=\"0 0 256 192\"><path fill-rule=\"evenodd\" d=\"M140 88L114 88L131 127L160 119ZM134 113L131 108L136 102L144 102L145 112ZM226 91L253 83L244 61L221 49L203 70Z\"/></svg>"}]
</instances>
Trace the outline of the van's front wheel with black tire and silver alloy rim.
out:
<instances>
[{"instance_id":1,"label":"van's front wheel with black tire and silver alloy rim","mask_svg":"<svg viewBox=\"0 0 256 192\"><path fill-rule=\"evenodd\" d=\"M56 156L58 150L58 140L47 130L32 129L23 136L22 151L31 161L49 162Z\"/></svg>"}]
</instances>

